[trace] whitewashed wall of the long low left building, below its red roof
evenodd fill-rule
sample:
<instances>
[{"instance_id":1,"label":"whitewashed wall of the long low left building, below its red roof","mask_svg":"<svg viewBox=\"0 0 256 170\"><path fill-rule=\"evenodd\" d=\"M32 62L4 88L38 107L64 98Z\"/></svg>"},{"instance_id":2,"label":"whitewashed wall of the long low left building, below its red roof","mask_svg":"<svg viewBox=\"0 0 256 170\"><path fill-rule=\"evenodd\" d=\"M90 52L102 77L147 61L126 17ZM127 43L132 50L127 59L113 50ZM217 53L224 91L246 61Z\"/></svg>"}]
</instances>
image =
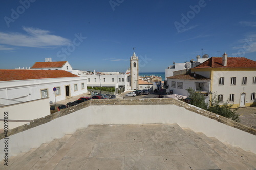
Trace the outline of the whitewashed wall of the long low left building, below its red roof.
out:
<instances>
[{"instance_id":1,"label":"whitewashed wall of the long low left building, below its red roof","mask_svg":"<svg viewBox=\"0 0 256 170\"><path fill-rule=\"evenodd\" d=\"M82 88L84 83L84 89ZM74 84L77 84L78 90L74 91ZM18 101L31 101L41 98L41 89L48 89L49 101L55 102L53 88L60 87L61 95L56 96L56 101L66 98L65 86L70 86L71 96L76 96L87 92L86 77L67 77L51 79L31 79L2 81L0 83L0 97L5 99L14 99Z\"/></svg>"}]
</instances>

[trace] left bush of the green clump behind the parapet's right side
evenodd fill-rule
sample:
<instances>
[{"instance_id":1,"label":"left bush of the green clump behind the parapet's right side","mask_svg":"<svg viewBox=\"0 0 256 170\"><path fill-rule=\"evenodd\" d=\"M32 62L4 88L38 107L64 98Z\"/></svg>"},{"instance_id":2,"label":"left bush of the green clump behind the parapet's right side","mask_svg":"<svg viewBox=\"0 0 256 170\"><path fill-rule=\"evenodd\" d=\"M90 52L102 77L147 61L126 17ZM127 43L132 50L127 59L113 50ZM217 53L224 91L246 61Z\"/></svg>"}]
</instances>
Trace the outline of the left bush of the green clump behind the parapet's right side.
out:
<instances>
[{"instance_id":1,"label":"left bush of the green clump behind the parapet's right side","mask_svg":"<svg viewBox=\"0 0 256 170\"><path fill-rule=\"evenodd\" d=\"M189 92L188 98L191 99L191 105L207 110L208 103L205 102L205 96L203 96L200 92L194 91L191 87L189 87L187 91Z\"/></svg>"}]
</instances>

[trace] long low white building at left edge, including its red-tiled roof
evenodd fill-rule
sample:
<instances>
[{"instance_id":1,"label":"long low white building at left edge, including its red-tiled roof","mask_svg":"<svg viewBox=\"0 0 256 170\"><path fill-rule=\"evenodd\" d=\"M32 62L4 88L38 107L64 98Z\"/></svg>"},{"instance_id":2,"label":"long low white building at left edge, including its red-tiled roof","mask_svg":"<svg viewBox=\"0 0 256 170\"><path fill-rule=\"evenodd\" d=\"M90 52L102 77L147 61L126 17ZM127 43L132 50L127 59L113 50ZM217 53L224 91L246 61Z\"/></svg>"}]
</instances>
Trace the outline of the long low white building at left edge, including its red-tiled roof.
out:
<instances>
[{"instance_id":1,"label":"long low white building at left edge, including its red-tiled roof","mask_svg":"<svg viewBox=\"0 0 256 170\"><path fill-rule=\"evenodd\" d=\"M87 92L87 78L67 71L56 70L0 70L0 96L16 101L49 98L56 101Z\"/></svg>"}]
</instances>

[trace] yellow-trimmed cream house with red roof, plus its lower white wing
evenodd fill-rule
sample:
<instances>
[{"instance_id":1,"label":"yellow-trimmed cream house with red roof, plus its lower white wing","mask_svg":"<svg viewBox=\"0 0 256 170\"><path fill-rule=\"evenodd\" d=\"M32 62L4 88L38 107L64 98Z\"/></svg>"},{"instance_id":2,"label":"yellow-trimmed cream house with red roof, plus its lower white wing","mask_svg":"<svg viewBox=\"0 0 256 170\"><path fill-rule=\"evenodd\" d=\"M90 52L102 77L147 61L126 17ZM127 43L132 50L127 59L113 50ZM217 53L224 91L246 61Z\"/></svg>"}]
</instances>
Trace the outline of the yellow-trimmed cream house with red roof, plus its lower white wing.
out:
<instances>
[{"instance_id":1,"label":"yellow-trimmed cream house with red roof, plus its lower white wing","mask_svg":"<svg viewBox=\"0 0 256 170\"><path fill-rule=\"evenodd\" d=\"M184 74L168 77L168 90L188 95L186 89L191 87L205 95L211 92L217 95L220 103L228 101L233 107L256 105L256 61L244 57L227 57L225 53L222 57L211 57L191 68L190 78L194 73L196 77L204 78L184 79L188 76Z\"/></svg>"}]
</instances>

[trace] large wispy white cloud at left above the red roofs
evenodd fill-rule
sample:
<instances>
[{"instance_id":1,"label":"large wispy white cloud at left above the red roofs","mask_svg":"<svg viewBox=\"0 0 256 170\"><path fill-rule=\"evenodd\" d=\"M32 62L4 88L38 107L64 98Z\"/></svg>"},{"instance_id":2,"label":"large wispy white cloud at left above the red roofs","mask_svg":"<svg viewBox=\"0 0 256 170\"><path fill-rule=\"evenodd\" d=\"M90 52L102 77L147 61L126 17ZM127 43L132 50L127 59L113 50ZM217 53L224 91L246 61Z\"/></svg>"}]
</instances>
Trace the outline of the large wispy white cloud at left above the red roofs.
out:
<instances>
[{"instance_id":1,"label":"large wispy white cloud at left above the red roofs","mask_svg":"<svg viewBox=\"0 0 256 170\"><path fill-rule=\"evenodd\" d=\"M52 47L70 44L70 40L50 34L48 30L23 27L27 34L0 32L0 44L25 47Z\"/></svg>"}]
</instances>

